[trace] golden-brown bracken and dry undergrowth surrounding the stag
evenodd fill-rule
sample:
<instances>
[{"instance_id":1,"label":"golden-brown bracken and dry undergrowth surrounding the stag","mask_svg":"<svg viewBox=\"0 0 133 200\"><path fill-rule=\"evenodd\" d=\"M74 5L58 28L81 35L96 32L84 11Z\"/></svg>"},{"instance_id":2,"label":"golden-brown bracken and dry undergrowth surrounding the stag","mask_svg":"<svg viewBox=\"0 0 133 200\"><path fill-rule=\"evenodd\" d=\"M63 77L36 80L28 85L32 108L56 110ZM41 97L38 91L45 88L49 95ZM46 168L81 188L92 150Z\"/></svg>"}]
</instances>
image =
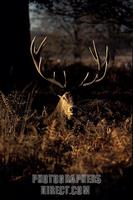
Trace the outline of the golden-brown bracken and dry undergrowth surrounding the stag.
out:
<instances>
[{"instance_id":1,"label":"golden-brown bracken and dry undergrowth surrounding the stag","mask_svg":"<svg viewBox=\"0 0 133 200\"><path fill-rule=\"evenodd\" d=\"M0 92L0 176L13 181L33 173L106 173L132 165L132 106L119 100L77 102L62 129L45 123L47 105L33 109L30 92ZM2 179L1 179L2 180Z\"/></svg>"}]
</instances>

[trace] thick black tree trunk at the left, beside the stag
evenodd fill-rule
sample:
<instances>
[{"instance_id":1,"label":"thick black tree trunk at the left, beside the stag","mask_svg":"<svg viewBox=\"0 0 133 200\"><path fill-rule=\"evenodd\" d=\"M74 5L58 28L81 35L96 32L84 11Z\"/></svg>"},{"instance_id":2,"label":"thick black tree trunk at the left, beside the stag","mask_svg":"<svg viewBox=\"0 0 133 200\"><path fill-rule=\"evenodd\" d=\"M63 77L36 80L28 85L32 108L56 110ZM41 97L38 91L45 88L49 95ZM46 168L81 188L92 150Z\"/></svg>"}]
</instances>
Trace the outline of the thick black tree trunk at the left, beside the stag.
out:
<instances>
[{"instance_id":1,"label":"thick black tree trunk at the left, beside the stag","mask_svg":"<svg viewBox=\"0 0 133 200\"><path fill-rule=\"evenodd\" d=\"M10 90L32 80L28 0L5 1L1 9L0 89Z\"/></svg>"}]
</instances>

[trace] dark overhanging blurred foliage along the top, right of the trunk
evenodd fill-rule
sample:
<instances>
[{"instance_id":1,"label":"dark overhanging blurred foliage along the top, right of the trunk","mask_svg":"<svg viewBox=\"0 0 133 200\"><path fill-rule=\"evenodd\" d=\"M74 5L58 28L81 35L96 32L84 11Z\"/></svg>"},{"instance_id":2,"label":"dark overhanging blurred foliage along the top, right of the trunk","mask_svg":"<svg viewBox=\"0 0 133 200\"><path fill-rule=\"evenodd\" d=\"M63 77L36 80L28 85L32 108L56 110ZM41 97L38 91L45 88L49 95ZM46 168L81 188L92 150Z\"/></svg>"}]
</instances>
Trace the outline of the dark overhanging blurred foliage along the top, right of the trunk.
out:
<instances>
[{"instance_id":1,"label":"dark overhanging blurred foliage along the top, right of the trunk","mask_svg":"<svg viewBox=\"0 0 133 200\"><path fill-rule=\"evenodd\" d=\"M36 0L53 14L67 15L75 19L86 15L100 21L113 21L133 28L133 2L130 0Z\"/></svg>"}]
</instances>

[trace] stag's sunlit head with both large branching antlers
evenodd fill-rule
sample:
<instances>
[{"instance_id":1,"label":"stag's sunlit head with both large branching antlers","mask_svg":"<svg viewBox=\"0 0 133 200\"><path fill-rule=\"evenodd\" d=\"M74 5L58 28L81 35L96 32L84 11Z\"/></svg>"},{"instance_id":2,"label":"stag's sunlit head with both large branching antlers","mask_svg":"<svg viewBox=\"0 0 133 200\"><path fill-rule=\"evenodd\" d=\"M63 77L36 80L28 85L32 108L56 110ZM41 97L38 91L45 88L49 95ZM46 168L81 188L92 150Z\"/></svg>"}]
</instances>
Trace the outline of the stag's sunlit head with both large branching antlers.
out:
<instances>
[{"instance_id":1,"label":"stag's sunlit head with both large branching antlers","mask_svg":"<svg viewBox=\"0 0 133 200\"><path fill-rule=\"evenodd\" d=\"M32 42L31 42L31 46L30 46L30 52L31 52L31 56L34 62L34 65L36 67L37 72L40 74L40 76L49 81L52 84L55 84L56 86L62 88L62 89L66 89L67 86L67 81L66 81L66 72L65 70L62 72L62 75L64 77L64 83L62 84L61 82L56 80L56 73L53 72L52 78L46 77L43 73L42 73L42 57L41 57L41 50L43 48L43 46L46 44L46 37L42 40L42 42L40 43L39 47L36 48L35 47L35 40L36 37L33 38ZM106 74L107 71L107 64L108 64L108 47L106 46L106 55L105 55L105 61L102 63L101 59L99 57L98 51L96 49L95 46L95 42L93 41L93 48L94 50L92 50L90 48L90 52L93 56L94 61L97 64L97 72L95 74L95 77L93 78L93 80L86 82L88 76L89 76L89 72L87 72L87 74L85 75L85 77L83 78L83 80L81 81L81 83L78 85L79 87L83 86L89 86L95 82L100 82ZM94 51L94 52L93 52ZM102 63L102 64L101 64ZM102 73L102 75L99 77L99 73L101 72L101 69L104 68L104 71ZM73 104L73 100L71 97L70 92L65 92L62 96L59 96L59 102L57 104L57 107L55 109L55 112L58 112L58 114L60 114L61 116L64 116L67 119L71 119L71 117L74 114L74 110L75 110L75 106Z\"/></svg>"}]
</instances>

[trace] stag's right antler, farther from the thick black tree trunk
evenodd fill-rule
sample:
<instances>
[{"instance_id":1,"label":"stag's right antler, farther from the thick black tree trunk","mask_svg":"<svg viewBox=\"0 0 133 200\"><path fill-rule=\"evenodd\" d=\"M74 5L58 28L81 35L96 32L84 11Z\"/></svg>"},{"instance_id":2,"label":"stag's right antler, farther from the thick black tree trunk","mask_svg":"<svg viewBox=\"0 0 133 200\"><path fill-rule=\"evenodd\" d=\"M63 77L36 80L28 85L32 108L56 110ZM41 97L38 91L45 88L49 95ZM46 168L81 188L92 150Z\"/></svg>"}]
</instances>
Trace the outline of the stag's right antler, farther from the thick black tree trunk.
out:
<instances>
[{"instance_id":1,"label":"stag's right antler, farther from the thick black tree trunk","mask_svg":"<svg viewBox=\"0 0 133 200\"><path fill-rule=\"evenodd\" d=\"M87 80L87 78L89 76L89 72L87 72L87 74L85 75L85 78L83 79L83 81L80 83L79 86L88 86L88 85L93 84L94 82L96 82L96 83L100 82L105 77L105 74L107 72L107 67L108 67L108 46L106 46L105 61L104 61L103 64L101 64L101 59L100 59L100 56L98 54L97 48L95 46L94 40L93 40L93 48L94 48L94 53L93 53L93 51L92 51L92 49L90 47L89 47L89 50L90 50L90 52L91 52L91 54L93 56L94 61L97 63L97 71L98 72L96 73L96 75L95 75L95 77L94 77L94 79L92 81L85 83L85 81ZM103 66L105 66L104 72L103 72L102 76L99 78L99 72L100 72L100 70L101 70L101 68Z\"/></svg>"}]
</instances>

